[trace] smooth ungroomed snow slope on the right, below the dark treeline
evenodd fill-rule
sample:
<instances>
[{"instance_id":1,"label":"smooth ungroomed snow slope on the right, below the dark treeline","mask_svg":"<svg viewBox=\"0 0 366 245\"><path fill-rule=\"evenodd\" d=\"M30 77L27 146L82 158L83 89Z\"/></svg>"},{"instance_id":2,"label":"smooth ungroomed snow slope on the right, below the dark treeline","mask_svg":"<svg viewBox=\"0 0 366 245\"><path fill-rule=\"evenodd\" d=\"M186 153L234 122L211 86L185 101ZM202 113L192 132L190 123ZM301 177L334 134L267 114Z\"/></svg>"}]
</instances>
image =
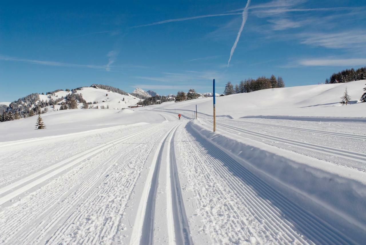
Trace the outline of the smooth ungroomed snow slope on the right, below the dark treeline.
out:
<instances>
[{"instance_id":1,"label":"smooth ungroomed snow slope on the right, below the dark treeline","mask_svg":"<svg viewBox=\"0 0 366 245\"><path fill-rule=\"evenodd\" d=\"M347 87L351 103L342 106L339 102ZM234 118L244 116L318 116L318 117L365 117L366 103L357 103L363 94L365 80L272 88L251 93L216 97L216 114ZM199 98L183 102L167 102L156 108L171 110L194 110L212 115L212 98ZM189 114L191 115L191 113Z\"/></svg>"}]
</instances>

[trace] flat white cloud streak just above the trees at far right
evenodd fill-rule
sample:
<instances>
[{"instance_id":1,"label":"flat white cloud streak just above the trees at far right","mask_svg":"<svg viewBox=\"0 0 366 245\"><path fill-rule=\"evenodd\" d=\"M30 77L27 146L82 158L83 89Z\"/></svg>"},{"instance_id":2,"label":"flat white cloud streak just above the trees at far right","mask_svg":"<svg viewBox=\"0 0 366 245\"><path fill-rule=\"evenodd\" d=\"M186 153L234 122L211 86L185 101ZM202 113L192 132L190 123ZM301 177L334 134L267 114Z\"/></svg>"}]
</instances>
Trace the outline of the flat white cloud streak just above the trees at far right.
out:
<instances>
[{"instance_id":1,"label":"flat white cloud streak just above the trees at far right","mask_svg":"<svg viewBox=\"0 0 366 245\"><path fill-rule=\"evenodd\" d=\"M306 60L299 60L298 64L304 66L365 65L366 59L306 59Z\"/></svg>"}]
</instances>

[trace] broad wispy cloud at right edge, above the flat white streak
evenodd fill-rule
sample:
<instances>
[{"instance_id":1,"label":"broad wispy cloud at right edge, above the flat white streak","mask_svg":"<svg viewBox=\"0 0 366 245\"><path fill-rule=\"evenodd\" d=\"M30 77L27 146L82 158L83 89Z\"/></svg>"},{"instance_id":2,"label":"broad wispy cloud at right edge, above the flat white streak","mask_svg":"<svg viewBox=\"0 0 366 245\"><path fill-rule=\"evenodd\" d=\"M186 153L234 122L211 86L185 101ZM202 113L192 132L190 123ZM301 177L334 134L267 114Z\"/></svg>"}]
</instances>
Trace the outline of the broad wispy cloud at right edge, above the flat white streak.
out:
<instances>
[{"instance_id":1,"label":"broad wispy cloud at right edge, above the flat white streak","mask_svg":"<svg viewBox=\"0 0 366 245\"><path fill-rule=\"evenodd\" d=\"M353 30L339 33L303 33L299 35L302 44L331 49L365 48L366 32Z\"/></svg>"}]
</instances>

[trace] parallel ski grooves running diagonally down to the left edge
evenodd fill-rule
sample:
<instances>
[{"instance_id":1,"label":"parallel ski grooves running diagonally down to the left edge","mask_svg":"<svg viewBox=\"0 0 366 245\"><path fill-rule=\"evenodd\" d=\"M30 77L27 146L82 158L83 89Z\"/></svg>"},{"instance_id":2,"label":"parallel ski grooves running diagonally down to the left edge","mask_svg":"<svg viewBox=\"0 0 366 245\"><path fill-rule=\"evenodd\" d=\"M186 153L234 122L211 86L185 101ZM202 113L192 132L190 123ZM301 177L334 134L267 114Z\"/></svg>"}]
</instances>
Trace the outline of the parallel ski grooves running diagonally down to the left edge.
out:
<instances>
[{"instance_id":1,"label":"parallel ski grooves running diagonally down to the left edge","mask_svg":"<svg viewBox=\"0 0 366 245\"><path fill-rule=\"evenodd\" d=\"M147 129L139 131L137 133L132 133L131 135L122 137L121 139L111 140L109 142L106 142L102 146L92 147L86 151L83 151L79 154L73 155L72 157L64 159L61 162L58 162L49 167L46 167L45 169L37 171L36 173L26 176L25 178L22 178L12 184L4 186L3 188L0 189L0 205L7 203L14 197L28 191L29 189L41 184L42 182L45 182L49 178L56 176L57 174L61 173L62 171L85 160L86 158L88 158L104 149L107 149L108 147L113 146L113 144L123 142L124 140L130 139L131 137L134 137L141 133L150 131L156 127L159 127L159 125L154 125L152 127L149 127Z\"/></svg>"}]
</instances>

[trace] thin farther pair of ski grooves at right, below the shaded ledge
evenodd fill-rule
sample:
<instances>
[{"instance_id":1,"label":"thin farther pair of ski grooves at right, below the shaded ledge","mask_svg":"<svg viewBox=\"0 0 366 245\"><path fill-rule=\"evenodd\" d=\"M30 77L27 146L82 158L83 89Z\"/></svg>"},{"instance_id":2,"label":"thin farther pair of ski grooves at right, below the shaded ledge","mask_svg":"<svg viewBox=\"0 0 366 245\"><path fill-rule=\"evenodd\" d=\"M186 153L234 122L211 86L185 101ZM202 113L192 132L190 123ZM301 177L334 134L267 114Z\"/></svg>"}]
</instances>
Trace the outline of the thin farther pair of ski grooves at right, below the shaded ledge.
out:
<instances>
[{"instance_id":1,"label":"thin farther pair of ski grooves at right, below the shaded ledge","mask_svg":"<svg viewBox=\"0 0 366 245\"><path fill-rule=\"evenodd\" d=\"M238 121L238 120L228 120L228 121L242 122L242 123L255 124L255 125L263 125L263 126L276 127L276 128L291 129L291 130L296 130L296 131L344 137L344 138L349 138L349 139L366 140L366 135L354 135L354 134L349 134L349 133L338 133L338 132L321 131L321 130L315 130L315 129L295 128L295 127L290 127L290 126L279 126L279 125L267 124L267 123L262 123L262 122L248 122L248 121Z\"/></svg>"}]
</instances>

